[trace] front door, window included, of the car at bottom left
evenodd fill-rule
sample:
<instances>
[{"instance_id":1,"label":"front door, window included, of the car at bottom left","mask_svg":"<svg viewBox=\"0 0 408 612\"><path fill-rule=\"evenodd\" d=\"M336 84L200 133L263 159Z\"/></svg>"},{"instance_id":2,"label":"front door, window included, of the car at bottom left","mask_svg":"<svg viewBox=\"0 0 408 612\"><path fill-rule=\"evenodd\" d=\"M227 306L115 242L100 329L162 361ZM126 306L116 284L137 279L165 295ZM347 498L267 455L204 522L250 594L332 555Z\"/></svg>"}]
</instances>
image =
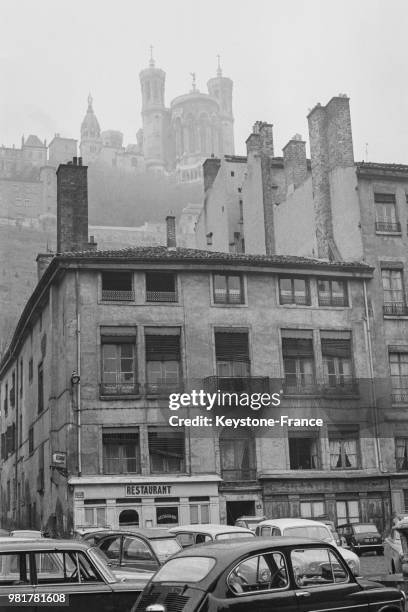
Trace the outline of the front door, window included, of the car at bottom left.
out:
<instances>
[{"instance_id":1,"label":"front door, window included, of the car at bottom left","mask_svg":"<svg viewBox=\"0 0 408 612\"><path fill-rule=\"evenodd\" d=\"M32 554L37 592L55 607L68 606L75 612L113 612L112 588L83 551L47 550ZM43 604L44 605L44 604ZM40 609L40 608L38 608Z\"/></svg>"}]
</instances>

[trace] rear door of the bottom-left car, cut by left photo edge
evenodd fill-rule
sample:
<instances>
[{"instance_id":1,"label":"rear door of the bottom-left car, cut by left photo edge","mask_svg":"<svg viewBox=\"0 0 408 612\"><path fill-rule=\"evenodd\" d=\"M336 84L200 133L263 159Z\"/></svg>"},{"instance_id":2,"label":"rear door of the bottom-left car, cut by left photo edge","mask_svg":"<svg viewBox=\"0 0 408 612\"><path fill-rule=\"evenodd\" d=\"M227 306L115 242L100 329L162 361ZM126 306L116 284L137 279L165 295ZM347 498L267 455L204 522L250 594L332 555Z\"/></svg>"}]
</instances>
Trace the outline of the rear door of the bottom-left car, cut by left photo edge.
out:
<instances>
[{"instance_id":1,"label":"rear door of the bottom-left car, cut by left photo edge","mask_svg":"<svg viewBox=\"0 0 408 612\"><path fill-rule=\"evenodd\" d=\"M0 611L36 610L30 603L36 593L31 581L30 556L25 552L0 553ZM21 603L21 605L19 605Z\"/></svg>"}]
</instances>

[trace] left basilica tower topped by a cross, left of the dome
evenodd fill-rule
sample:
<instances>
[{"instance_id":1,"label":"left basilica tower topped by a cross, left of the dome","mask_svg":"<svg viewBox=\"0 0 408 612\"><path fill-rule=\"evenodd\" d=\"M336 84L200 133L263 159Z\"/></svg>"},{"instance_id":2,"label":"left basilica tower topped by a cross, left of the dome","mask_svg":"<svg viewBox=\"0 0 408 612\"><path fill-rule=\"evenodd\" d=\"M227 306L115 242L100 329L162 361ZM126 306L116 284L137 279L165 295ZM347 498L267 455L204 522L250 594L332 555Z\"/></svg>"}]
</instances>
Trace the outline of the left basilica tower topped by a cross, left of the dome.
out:
<instances>
[{"instance_id":1,"label":"left basilica tower topped by a cross, left of the dome","mask_svg":"<svg viewBox=\"0 0 408 612\"><path fill-rule=\"evenodd\" d=\"M163 170L167 161L168 110L164 103L166 73L156 68L152 48L149 67L140 73L143 153L146 167Z\"/></svg>"}]
</instances>

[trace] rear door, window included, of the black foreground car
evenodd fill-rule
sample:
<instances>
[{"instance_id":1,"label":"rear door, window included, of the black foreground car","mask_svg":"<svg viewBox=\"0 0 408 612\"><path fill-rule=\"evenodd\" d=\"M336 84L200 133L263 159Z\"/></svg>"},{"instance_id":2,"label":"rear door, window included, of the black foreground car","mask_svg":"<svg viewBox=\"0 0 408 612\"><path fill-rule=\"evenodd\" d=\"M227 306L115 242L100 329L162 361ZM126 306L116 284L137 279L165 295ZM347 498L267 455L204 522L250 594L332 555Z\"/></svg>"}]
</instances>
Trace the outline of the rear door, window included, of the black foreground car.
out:
<instances>
[{"instance_id":1,"label":"rear door, window included, of the black foreground car","mask_svg":"<svg viewBox=\"0 0 408 612\"><path fill-rule=\"evenodd\" d=\"M284 555L271 551L241 560L228 574L226 599L217 603L215 609L234 612L297 612Z\"/></svg>"}]
</instances>

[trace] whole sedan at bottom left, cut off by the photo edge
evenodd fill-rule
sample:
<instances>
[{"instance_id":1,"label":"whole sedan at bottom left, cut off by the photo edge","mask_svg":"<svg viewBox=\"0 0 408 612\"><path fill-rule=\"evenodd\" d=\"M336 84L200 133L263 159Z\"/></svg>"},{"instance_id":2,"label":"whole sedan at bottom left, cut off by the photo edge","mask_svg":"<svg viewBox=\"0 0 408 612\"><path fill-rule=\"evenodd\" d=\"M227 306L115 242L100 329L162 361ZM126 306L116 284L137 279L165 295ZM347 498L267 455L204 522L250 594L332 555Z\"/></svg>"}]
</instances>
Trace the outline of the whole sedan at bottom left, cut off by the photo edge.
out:
<instances>
[{"instance_id":1,"label":"whole sedan at bottom left, cut off by the photo edge","mask_svg":"<svg viewBox=\"0 0 408 612\"><path fill-rule=\"evenodd\" d=\"M37 612L46 603L55 603L55 608L65 604L75 612L127 612L146 583L119 582L100 551L83 542L0 540L0 610L14 603L14 610ZM39 601L32 602L34 594Z\"/></svg>"}]
</instances>

